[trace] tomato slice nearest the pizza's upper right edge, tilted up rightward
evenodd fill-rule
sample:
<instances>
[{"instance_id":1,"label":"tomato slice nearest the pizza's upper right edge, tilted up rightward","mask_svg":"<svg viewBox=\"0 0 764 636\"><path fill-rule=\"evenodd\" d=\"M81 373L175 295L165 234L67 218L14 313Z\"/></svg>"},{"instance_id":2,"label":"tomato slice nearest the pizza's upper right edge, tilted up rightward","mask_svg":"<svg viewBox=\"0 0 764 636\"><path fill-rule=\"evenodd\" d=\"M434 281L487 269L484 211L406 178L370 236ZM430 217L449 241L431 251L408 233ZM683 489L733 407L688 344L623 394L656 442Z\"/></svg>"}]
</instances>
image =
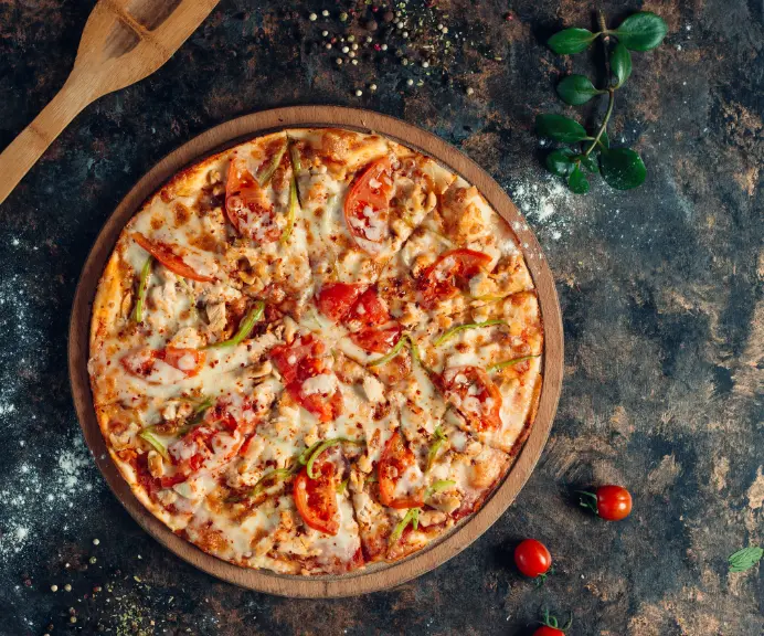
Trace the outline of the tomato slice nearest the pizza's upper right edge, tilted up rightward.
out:
<instances>
[{"instance_id":1,"label":"tomato slice nearest the pizza's upper right edge, tilted up rightward","mask_svg":"<svg viewBox=\"0 0 764 636\"><path fill-rule=\"evenodd\" d=\"M450 250L442 254L420 277L423 305L433 307L439 300L453 298L469 286L469 279L490 263L491 257L475 250Z\"/></svg>"}]
</instances>

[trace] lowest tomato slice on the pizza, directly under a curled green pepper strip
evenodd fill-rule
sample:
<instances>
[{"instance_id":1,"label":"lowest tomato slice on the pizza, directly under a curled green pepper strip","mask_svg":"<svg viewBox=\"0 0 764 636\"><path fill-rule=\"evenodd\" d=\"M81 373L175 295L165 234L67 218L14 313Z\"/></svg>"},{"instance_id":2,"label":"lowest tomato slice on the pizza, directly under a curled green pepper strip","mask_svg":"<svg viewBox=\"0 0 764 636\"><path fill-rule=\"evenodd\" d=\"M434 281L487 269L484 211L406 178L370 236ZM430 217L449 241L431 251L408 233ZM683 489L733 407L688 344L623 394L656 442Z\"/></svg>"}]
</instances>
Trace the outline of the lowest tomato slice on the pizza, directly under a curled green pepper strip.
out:
<instances>
[{"instance_id":1,"label":"lowest tomato slice on the pizza, directly under a curled green pepper strip","mask_svg":"<svg viewBox=\"0 0 764 636\"><path fill-rule=\"evenodd\" d=\"M308 477L308 467L295 478L294 495L297 511L314 530L325 534L337 534L340 530L339 506L337 505L337 484L335 465L323 462L314 466L316 479Z\"/></svg>"}]
</instances>

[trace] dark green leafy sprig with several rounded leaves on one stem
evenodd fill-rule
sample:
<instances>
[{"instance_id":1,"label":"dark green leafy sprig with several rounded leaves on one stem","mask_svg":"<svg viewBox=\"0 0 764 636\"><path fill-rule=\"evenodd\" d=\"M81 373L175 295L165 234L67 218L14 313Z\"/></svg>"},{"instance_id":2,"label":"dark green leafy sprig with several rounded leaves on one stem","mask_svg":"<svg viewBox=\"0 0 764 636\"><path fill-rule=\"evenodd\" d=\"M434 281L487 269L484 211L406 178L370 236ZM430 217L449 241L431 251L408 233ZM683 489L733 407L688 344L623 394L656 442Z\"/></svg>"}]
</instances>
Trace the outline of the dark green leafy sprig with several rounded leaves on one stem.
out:
<instances>
[{"instance_id":1,"label":"dark green leafy sprig with several rounded leaves on one stem","mask_svg":"<svg viewBox=\"0 0 764 636\"><path fill-rule=\"evenodd\" d=\"M629 190L641 186L647 176L639 155L629 148L611 148L607 123L613 115L615 92L632 75L629 51L649 51L666 38L668 26L662 18L647 11L635 13L615 30L607 29L605 17L599 12L599 31L565 29L550 38L549 47L561 55L581 53L592 42L602 38L605 47L607 85L597 88L585 75L569 75L558 85L558 95L572 106L586 104L592 97L607 95L607 110L602 124L590 135L575 119L555 114L543 114L535 118L535 129L569 147L553 150L547 156L550 172L567 180L567 187L576 194L590 191L586 173L599 172L605 182L616 190ZM570 147L573 145L573 147Z\"/></svg>"}]
</instances>

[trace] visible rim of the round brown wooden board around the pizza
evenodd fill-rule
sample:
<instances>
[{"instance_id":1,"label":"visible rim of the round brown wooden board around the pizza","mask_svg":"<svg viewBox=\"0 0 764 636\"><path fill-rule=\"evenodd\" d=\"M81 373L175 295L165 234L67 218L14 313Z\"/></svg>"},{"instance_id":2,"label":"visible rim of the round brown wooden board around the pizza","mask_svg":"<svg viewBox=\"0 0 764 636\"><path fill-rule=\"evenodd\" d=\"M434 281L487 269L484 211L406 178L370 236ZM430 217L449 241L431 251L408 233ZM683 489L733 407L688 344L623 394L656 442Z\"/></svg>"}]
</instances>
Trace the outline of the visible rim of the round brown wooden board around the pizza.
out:
<instances>
[{"instance_id":1,"label":"visible rim of the round brown wooden board around the pizza","mask_svg":"<svg viewBox=\"0 0 764 636\"><path fill-rule=\"evenodd\" d=\"M183 167L234 146L244 138L279 128L326 126L373 130L437 159L477 186L492 208L516 229L539 293L545 340L544 380L538 414L528 441L503 483L477 513L442 540L397 563L374 564L342 576L307 577L248 570L222 561L173 534L144 508L106 449L93 407L87 359L91 310L98 279L123 227L150 194ZM477 163L438 137L386 115L337 106L294 106L246 115L208 130L168 155L128 192L104 225L85 262L72 309L68 368L79 423L98 468L123 506L149 534L204 572L251 590L295 597L340 597L386 590L437 568L482 534L514 500L541 456L554 420L562 386L562 320L554 279L535 236L509 197Z\"/></svg>"}]
</instances>

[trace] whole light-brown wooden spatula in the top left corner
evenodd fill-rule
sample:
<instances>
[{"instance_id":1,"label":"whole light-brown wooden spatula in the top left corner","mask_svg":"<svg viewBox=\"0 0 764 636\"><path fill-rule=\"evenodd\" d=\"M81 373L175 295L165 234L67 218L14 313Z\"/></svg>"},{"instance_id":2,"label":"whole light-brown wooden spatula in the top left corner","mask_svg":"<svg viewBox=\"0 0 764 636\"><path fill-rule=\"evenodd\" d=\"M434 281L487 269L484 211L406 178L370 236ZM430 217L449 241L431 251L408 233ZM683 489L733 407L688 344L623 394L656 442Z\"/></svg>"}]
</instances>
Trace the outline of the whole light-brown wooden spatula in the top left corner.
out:
<instances>
[{"instance_id":1,"label":"whole light-brown wooden spatula in the top left corner","mask_svg":"<svg viewBox=\"0 0 764 636\"><path fill-rule=\"evenodd\" d=\"M217 2L99 0L85 24L68 80L0 155L0 203L85 106L153 73Z\"/></svg>"}]
</instances>

